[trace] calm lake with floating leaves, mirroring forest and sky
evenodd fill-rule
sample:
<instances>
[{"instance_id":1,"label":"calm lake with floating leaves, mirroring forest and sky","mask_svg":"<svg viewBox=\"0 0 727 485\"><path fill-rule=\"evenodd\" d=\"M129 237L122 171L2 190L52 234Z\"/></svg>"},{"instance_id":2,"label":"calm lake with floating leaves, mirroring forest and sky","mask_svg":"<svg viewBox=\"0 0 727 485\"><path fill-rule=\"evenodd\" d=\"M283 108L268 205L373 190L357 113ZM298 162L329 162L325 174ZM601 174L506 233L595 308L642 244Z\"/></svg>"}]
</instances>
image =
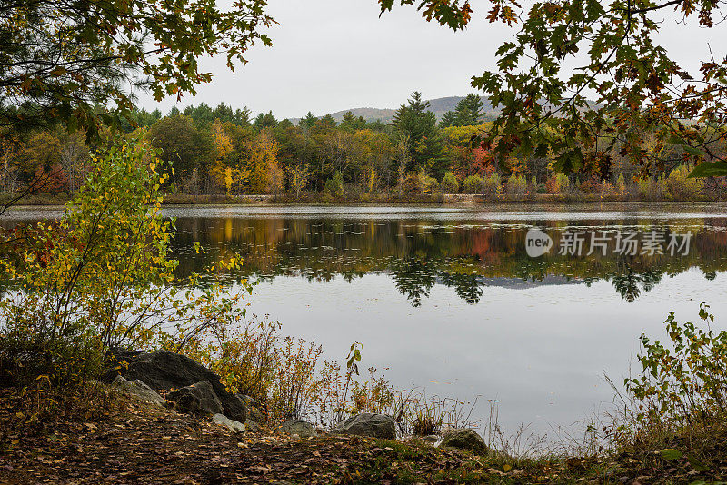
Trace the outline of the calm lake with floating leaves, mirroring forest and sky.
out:
<instances>
[{"instance_id":1,"label":"calm lake with floating leaves, mirroring forest and sky","mask_svg":"<svg viewBox=\"0 0 727 485\"><path fill-rule=\"evenodd\" d=\"M323 344L326 358L362 342L362 367L397 388L479 396L483 423L496 402L510 431L553 434L610 409L604 374L620 383L638 371L639 336L663 340L670 311L693 322L708 302L726 327L723 204L164 212L176 218L180 272L239 252L257 282L249 312ZM19 208L4 223L57 214Z\"/></svg>"}]
</instances>

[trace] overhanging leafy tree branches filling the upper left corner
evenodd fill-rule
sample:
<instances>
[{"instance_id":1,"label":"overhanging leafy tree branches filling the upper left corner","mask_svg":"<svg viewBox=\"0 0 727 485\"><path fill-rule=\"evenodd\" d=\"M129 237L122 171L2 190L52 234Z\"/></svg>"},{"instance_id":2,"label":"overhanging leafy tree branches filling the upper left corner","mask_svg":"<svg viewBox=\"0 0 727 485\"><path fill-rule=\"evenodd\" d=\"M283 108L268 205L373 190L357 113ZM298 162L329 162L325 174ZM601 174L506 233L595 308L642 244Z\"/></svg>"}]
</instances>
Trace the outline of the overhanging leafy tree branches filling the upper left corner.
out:
<instances>
[{"instance_id":1,"label":"overhanging leafy tree branches filling the upper left corner","mask_svg":"<svg viewBox=\"0 0 727 485\"><path fill-rule=\"evenodd\" d=\"M244 64L251 45L270 45L266 0L226 9L190 0L8 0L0 5L0 125L65 122L89 136L134 107L133 90L161 100L209 82L198 59ZM97 106L105 106L100 111Z\"/></svg>"}]
</instances>

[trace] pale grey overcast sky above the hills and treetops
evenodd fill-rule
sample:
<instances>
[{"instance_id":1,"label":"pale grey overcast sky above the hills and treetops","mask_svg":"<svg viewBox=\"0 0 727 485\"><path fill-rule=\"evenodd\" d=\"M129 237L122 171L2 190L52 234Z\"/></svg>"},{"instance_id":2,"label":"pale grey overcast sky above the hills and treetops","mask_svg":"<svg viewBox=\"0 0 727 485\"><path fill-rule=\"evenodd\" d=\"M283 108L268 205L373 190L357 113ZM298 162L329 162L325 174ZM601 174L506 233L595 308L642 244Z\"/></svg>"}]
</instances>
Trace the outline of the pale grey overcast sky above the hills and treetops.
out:
<instances>
[{"instance_id":1,"label":"pale grey overcast sky above the hills and treetops","mask_svg":"<svg viewBox=\"0 0 727 485\"><path fill-rule=\"evenodd\" d=\"M395 108L413 91L427 99L473 92L470 78L493 68L494 51L513 30L483 20L489 3L475 0L475 17L466 31L454 33L429 24L413 7L394 8L379 18L375 0L270 0L279 23L268 32L273 47L255 46L249 64L233 74L223 59L207 59L214 74L194 97L178 106L220 102L248 106L254 114L273 110L278 118L309 110L323 115L356 107ZM688 69L709 53L725 54L724 25L712 30L662 26L662 44ZM169 110L175 98L157 104L140 96L147 109Z\"/></svg>"}]
</instances>

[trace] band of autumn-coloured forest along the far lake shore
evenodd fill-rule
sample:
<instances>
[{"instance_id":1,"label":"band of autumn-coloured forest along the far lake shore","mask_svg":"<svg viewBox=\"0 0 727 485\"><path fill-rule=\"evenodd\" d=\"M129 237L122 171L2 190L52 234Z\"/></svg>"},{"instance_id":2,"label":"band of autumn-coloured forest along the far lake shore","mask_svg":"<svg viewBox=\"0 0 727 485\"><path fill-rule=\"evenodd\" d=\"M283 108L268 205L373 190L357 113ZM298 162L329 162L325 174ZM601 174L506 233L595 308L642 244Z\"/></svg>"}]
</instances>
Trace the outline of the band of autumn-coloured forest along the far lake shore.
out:
<instances>
[{"instance_id":1,"label":"band of autumn-coloured forest along the far lake shore","mask_svg":"<svg viewBox=\"0 0 727 485\"><path fill-rule=\"evenodd\" d=\"M722 179L687 179L689 167L676 148L646 144L642 163L621 156L614 144L609 163L586 164L568 176L553 169L553 156L495 160L482 144L484 104L470 94L438 121L420 93L395 113L393 122L367 121L351 112L309 113L293 123L272 112L226 104L135 111L124 120L128 136L152 144L172 163L165 191L172 194L236 196L268 193L289 198L366 200L373 195L476 193L490 200L600 198L695 200L719 198ZM103 130L102 130L103 131ZM648 137L647 137L648 140ZM712 153L727 153L715 142ZM84 134L64 127L5 134L0 145L0 189L74 192L89 163Z\"/></svg>"}]
</instances>

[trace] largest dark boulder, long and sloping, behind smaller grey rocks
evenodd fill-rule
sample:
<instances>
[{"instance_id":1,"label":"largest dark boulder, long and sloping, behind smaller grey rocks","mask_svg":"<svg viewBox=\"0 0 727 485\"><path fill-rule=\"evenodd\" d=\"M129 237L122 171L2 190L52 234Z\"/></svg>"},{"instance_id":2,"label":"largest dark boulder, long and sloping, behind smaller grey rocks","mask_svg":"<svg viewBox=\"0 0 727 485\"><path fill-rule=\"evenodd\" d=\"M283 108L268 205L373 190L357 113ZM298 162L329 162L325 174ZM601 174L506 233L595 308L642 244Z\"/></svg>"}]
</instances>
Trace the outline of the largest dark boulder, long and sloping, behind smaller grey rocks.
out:
<instances>
[{"instance_id":1,"label":"largest dark boulder, long and sloping, behind smaller grey rocks","mask_svg":"<svg viewBox=\"0 0 727 485\"><path fill-rule=\"evenodd\" d=\"M209 382L222 403L225 416L240 422L247 418L243 403L224 389L220 376L184 355L170 351L121 351L109 356L108 367L106 382L112 382L117 375L122 375L128 381L143 381L155 391L169 391L191 386L196 382Z\"/></svg>"}]
</instances>

